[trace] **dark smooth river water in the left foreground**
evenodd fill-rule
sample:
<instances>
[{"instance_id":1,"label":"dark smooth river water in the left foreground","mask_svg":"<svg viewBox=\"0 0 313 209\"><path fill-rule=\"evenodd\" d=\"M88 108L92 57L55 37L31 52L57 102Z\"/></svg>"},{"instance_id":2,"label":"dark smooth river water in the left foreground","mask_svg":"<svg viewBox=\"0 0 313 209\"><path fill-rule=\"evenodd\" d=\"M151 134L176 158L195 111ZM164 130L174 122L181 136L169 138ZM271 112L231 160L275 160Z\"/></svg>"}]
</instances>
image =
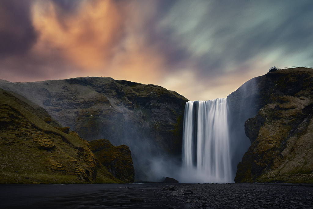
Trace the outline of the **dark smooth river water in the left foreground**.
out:
<instances>
[{"instance_id":1,"label":"dark smooth river water in the left foreground","mask_svg":"<svg viewBox=\"0 0 313 209\"><path fill-rule=\"evenodd\" d=\"M156 191L162 186L164 185L0 185L0 208L169 208L171 202L156 195Z\"/></svg>"}]
</instances>

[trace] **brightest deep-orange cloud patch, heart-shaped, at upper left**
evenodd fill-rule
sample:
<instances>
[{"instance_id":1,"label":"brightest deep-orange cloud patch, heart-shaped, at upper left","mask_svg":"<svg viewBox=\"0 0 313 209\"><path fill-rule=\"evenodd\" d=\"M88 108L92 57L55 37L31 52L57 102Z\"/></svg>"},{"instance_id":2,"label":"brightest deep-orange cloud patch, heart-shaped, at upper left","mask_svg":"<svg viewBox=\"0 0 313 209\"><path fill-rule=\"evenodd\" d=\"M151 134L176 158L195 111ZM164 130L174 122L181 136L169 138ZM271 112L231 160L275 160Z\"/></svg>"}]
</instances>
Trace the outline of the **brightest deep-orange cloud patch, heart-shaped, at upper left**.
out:
<instances>
[{"instance_id":1,"label":"brightest deep-orange cloud patch, heart-shaped, at upper left","mask_svg":"<svg viewBox=\"0 0 313 209\"><path fill-rule=\"evenodd\" d=\"M62 14L52 2L33 4L33 26L39 33L34 50L61 53L72 64L99 70L110 59L122 34L122 17L110 0L83 2L75 13Z\"/></svg>"}]
</instances>

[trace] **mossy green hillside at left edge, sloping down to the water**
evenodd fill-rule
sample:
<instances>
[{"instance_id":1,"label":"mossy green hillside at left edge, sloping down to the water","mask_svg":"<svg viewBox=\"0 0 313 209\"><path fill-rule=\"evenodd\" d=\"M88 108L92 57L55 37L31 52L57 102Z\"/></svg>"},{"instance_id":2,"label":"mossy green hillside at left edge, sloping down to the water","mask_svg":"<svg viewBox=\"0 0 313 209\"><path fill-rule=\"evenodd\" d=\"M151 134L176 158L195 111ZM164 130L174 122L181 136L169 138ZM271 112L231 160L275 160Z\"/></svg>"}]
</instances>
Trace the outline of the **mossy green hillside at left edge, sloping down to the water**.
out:
<instances>
[{"instance_id":1,"label":"mossy green hillside at left edge, sloping down to the water","mask_svg":"<svg viewBox=\"0 0 313 209\"><path fill-rule=\"evenodd\" d=\"M0 183L126 182L103 172L105 166L98 170L88 142L28 99L0 89L0 112ZM126 160L122 163L129 165L123 166L131 167L131 159Z\"/></svg>"}]
</instances>

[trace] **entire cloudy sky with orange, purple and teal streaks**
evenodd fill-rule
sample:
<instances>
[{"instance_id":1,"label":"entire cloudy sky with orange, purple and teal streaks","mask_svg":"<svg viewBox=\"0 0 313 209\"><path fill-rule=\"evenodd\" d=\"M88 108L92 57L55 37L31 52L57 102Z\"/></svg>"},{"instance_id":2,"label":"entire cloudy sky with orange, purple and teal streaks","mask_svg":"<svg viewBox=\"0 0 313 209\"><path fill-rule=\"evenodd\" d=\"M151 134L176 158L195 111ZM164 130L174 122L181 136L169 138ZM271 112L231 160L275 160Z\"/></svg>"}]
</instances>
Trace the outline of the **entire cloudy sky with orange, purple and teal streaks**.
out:
<instances>
[{"instance_id":1,"label":"entire cloudy sky with orange, purple and teal streaks","mask_svg":"<svg viewBox=\"0 0 313 209\"><path fill-rule=\"evenodd\" d=\"M313 67L311 0L0 0L0 79L112 77L189 100Z\"/></svg>"}]
</instances>

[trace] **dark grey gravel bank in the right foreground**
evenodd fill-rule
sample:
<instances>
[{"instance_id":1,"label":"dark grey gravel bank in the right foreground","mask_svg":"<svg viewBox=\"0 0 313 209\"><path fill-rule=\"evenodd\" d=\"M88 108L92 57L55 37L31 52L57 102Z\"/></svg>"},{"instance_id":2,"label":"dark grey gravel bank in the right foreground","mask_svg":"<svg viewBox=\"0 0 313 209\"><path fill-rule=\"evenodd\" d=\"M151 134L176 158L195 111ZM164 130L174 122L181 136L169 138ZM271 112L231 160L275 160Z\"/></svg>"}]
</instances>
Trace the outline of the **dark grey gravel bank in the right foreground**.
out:
<instances>
[{"instance_id":1,"label":"dark grey gravel bank in the right foreground","mask_svg":"<svg viewBox=\"0 0 313 209\"><path fill-rule=\"evenodd\" d=\"M157 195L172 208L313 208L313 186L306 184L176 184Z\"/></svg>"}]
</instances>

